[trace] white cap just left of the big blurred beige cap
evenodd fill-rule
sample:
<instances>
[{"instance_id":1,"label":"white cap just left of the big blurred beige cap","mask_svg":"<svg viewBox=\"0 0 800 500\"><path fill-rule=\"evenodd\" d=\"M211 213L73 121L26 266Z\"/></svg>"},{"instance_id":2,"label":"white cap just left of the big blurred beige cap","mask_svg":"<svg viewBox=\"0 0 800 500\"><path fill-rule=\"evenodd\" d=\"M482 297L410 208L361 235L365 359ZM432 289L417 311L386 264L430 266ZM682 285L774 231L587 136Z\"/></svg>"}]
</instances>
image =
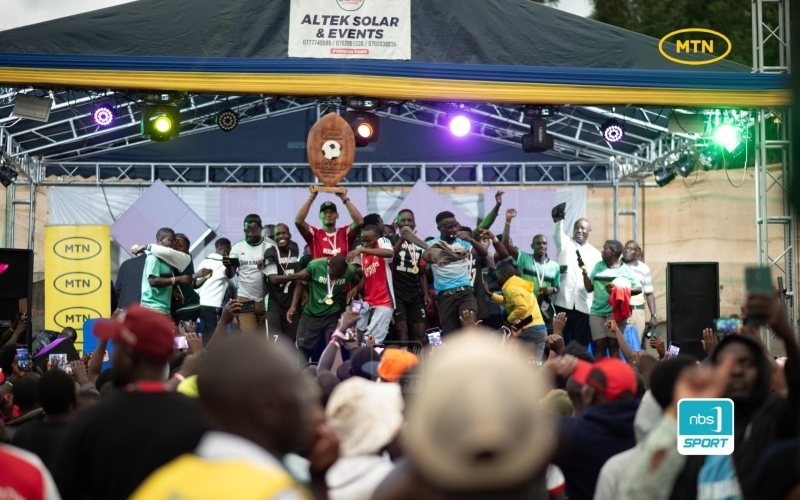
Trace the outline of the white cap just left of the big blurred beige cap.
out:
<instances>
[{"instance_id":1,"label":"white cap just left of the big blurred beige cap","mask_svg":"<svg viewBox=\"0 0 800 500\"><path fill-rule=\"evenodd\" d=\"M403 395L397 384L352 377L338 384L325 406L325 420L339 436L343 457L371 455L403 427Z\"/></svg>"}]
</instances>

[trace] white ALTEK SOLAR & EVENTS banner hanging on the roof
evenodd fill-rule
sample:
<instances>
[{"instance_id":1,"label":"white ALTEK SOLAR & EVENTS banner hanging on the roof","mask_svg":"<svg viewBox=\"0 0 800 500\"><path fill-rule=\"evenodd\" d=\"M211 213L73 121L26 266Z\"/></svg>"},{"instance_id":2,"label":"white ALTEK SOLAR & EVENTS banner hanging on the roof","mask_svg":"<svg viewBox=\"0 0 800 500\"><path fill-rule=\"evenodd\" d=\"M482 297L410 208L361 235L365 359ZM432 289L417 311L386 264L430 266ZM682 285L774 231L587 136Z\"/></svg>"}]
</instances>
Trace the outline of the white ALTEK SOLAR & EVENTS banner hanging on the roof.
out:
<instances>
[{"instance_id":1,"label":"white ALTEK SOLAR & EVENTS banner hanging on the roof","mask_svg":"<svg viewBox=\"0 0 800 500\"><path fill-rule=\"evenodd\" d=\"M292 0L289 57L411 59L411 0Z\"/></svg>"}]
</instances>

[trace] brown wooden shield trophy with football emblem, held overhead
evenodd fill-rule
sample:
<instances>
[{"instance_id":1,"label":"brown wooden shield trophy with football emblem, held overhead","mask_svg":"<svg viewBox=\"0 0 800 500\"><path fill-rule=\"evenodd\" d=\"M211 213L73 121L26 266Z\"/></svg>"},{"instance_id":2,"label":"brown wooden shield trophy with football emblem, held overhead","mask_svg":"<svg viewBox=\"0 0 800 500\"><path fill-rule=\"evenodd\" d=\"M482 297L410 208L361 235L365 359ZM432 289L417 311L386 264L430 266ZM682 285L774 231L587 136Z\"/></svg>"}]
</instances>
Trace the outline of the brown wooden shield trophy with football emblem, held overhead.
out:
<instances>
[{"instance_id":1,"label":"brown wooden shield trophy with football emblem, held overhead","mask_svg":"<svg viewBox=\"0 0 800 500\"><path fill-rule=\"evenodd\" d=\"M323 184L311 189L345 192L345 188L337 188L336 184L347 176L356 159L356 138L350 124L336 113L323 116L308 133L306 151L311 171Z\"/></svg>"}]
</instances>

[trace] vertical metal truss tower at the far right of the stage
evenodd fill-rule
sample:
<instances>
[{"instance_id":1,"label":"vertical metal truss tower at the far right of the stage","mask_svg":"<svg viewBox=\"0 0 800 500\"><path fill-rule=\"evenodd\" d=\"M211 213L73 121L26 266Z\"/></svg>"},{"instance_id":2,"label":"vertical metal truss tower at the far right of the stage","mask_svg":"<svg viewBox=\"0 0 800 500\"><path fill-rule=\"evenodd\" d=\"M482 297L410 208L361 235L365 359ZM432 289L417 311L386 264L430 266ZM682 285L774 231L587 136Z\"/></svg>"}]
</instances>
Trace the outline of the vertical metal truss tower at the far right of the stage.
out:
<instances>
[{"instance_id":1,"label":"vertical metal truss tower at the far right of the stage","mask_svg":"<svg viewBox=\"0 0 800 500\"><path fill-rule=\"evenodd\" d=\"M756 73L791 73L789 3L790 0L752 1L753 71ZM767 9L777 9L777 26L766 23ZM777 66L769 66L765 62L766 47L777 47ZM793 164L790 113L789 108L759 109L755 113L756 240L757 262L776 270L773 271L773 277L782 279L789 319L795 331L798 331L798 223L797 214L793 213L789 203ZM775 118L780 119L777 134ZM776 162L780 168L770 171L767 166ZM770 196L780 199L777 211L774 207L770 211ZM777 231L771 231L773 227ZM775 242L776 236L782 241ZM770 237L773 245L770 245ZM762 329L762 338L769 346L771 339L765 329Z\"/></svg>"}]
</instances>

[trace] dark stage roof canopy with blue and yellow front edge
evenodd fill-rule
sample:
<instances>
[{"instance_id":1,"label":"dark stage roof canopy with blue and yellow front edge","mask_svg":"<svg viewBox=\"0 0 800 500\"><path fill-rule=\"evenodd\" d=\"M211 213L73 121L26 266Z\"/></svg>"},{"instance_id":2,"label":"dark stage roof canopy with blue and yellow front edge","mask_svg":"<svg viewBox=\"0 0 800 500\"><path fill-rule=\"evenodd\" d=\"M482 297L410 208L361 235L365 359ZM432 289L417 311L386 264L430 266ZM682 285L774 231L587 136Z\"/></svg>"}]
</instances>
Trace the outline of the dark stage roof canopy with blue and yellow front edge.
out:
<instances>
[{"instance_id":1,"label":"dark stage roof canopy with blue and yellow front edge","mask_svg":"<svg viewBox=\"0 0 800 500\"><path fill-rule=\"evenodd\" d=\"M289 58L290 3L137 0L6 30L0 82L517 104L764 107L790 99L784 75L724 60L678 64L656 39L529 0L411 0L410 61Z\"/></svg>"}]
</instances>

